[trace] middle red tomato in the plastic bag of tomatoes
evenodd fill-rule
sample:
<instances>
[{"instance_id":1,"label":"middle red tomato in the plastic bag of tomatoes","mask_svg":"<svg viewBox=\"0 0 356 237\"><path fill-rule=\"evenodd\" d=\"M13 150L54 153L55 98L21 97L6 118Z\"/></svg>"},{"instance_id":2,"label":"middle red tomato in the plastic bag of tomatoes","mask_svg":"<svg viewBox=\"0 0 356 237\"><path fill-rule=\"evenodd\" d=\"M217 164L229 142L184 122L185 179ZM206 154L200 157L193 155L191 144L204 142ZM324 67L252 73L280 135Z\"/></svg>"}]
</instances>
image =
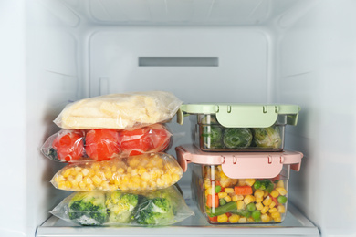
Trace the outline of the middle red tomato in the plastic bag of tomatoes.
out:
<instances>
[{"instance_id":1,"label":"middle red tomato in the plastic bag of tomatoes","mask_svg":"<svg viewBox=\"0 0 356 237\"><path fill-rule=\"evenodd\" d=\"M85 137L85 150L94 160L110 160L120 153L119 133L115 129L91 129Z\"/></svg>"}]
</instances>

